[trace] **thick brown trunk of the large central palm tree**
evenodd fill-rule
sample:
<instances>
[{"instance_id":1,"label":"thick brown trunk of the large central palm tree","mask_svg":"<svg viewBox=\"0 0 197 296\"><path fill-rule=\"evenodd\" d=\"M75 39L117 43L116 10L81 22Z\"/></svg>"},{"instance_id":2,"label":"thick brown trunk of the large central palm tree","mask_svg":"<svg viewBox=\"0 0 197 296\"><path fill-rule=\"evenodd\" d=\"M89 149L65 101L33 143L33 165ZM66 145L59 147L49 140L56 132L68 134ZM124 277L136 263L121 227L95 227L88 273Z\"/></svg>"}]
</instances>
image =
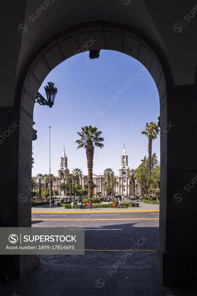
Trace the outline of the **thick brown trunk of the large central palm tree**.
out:
<instances>
[{"instance_id":1,"label":"thick brown trunk of the large central palm tree","mask_svg":"<svg viewBox=\"0 0 197 296\"><path fill-rule=\"evenodd\" d=\"M88 198L92 198L92 169L93 169L93 158L94 158L94 146L92 141L87 142L86 148L87 157L87 169L88 169Z\"/></svg>"}]
</instances>

